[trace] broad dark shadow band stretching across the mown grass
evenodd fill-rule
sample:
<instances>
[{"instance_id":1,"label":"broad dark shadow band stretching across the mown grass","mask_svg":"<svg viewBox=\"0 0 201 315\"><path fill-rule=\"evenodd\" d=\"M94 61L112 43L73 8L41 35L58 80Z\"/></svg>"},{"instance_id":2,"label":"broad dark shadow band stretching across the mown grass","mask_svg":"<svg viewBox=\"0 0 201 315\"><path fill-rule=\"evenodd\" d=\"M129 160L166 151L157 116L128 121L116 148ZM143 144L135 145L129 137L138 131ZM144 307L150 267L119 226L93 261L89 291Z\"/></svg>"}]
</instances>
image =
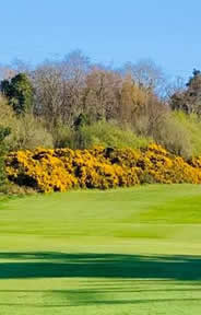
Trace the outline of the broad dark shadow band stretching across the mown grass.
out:
<instances>
[{"instance_id":1,"label":"broad dark shadow band stretching across the mown grass","mask_svg":"<svg viewBox=\"0 0 201 315\"><path fill-rule=\"evenodd\" d=\"M201 256L0 253L0 279L64 277L199 281Z\"/></svg>"}]
</instances>

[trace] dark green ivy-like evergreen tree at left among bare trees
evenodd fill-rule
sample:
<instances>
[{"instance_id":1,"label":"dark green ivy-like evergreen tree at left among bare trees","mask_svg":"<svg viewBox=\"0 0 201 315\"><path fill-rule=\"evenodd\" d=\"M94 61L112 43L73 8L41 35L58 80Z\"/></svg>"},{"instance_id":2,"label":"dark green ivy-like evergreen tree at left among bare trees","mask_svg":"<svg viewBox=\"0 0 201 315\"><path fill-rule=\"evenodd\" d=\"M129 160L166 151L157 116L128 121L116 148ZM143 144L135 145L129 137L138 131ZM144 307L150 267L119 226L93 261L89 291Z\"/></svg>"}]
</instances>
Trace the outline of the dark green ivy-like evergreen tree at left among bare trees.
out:
<instances>
[{"instance_id":1,"label":"dark green ivy-like evergreen tree at left among bare trees","mask_svg":"<svg viewBox=\"0 0 201 315\"><path fill-rule=\"evenodd\" d=\"M33 86L25 73L1 82L1 91L16 114L27 113L33 105Z\"/></svg>"}]
</instances>

